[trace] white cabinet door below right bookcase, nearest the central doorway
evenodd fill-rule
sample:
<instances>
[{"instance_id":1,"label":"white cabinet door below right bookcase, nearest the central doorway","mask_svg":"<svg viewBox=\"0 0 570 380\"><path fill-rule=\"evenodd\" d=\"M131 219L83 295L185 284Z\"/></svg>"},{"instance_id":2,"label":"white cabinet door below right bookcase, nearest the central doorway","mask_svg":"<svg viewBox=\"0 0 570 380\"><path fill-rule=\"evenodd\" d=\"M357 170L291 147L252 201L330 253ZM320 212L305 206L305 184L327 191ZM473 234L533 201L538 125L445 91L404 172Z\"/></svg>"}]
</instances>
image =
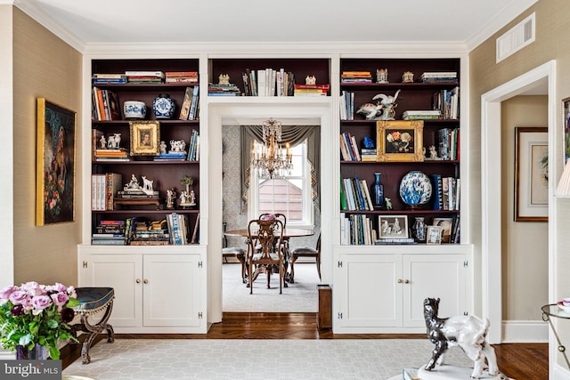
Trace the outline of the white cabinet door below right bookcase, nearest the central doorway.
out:
<instances>
[{"instance_id":1,"label":"white cabinet door below right bookcase, nearest the central doorway","mask_svg":"<svg viewBox=\"0 0 570 380\"><path fill-rule=\"evenodd\" d=\"M393 327L402 324L400 255L340 255L339 327Z\"/></svg>"}]
</instances>

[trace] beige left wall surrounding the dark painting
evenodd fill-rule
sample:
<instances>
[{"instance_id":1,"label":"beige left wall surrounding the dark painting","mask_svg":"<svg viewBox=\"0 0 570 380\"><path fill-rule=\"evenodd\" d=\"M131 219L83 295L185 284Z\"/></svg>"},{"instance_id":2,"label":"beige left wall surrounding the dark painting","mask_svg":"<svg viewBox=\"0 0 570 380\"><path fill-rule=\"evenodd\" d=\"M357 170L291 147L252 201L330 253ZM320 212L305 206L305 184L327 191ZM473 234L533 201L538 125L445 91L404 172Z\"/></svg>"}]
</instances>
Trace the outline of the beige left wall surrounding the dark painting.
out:
<instances>
[{"instance_id":1,"label":"beige left wall surrounding the dark painting","mask_svg":"<svg viewBox=\"0 0 570 380\"><path fill-rule=\"evenodd\" d=\"M76 181L76 222L37 227L36 100L46 98L77 111L81 141L81 54L13 8L14 84L14 281L77 284L81 181ZM77 144L77 158L81 157ZM81 166L76 165L76 179ZM79 202L78 202L79 201Z\"/></svg>"}]
</instances>

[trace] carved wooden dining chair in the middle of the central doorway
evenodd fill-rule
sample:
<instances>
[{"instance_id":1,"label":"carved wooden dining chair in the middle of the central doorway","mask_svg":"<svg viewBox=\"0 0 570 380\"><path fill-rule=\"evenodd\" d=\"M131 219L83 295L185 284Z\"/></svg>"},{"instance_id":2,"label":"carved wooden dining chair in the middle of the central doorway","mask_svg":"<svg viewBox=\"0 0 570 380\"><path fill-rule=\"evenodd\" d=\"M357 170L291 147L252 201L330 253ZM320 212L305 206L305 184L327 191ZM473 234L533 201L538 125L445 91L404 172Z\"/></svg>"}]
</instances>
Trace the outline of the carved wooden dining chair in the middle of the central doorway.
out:
<instances>
[{"instance_id":1,"label":"carved wooden dining chair in the middle of the central doorway","mask_svg":"<svg viewBox=\"0 0 570 380\"><path fill-rule=\"evenodd\" d=\"M253 281L261 272L267 277L270 287L273 269L279 270L279 294L285 278L283 271L283 222L279 219L256 219L248 223L248 279L249 294L253 294ZM255 273L252 271L256 268ZM287 284L285 284L287 285Z\"/></svg>"}]
</instances>

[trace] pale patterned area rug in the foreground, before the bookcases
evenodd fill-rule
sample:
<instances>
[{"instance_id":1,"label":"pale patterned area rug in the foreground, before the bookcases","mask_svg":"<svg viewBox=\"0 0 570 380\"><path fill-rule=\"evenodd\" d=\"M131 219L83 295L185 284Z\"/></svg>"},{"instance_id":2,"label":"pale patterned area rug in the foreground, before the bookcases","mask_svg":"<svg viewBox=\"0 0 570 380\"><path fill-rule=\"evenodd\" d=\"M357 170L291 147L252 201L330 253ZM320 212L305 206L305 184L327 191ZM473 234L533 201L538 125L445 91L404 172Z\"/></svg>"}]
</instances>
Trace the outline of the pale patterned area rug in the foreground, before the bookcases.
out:
<instances>
[{"instance_id":1,"label":"pale patterned area rug in the foreground, before the bookcases","mask_svg":"<svg viewBox=\"0 0 570 380\"><path fill-rule=\"evenodd\" d=\"M387 380L403 368L428 362L428 339L116 339L91 349L63 375L97 380L184 379L375 379ZM446 363L470 367L459 348Z\"/></svg>"}]
</instances>

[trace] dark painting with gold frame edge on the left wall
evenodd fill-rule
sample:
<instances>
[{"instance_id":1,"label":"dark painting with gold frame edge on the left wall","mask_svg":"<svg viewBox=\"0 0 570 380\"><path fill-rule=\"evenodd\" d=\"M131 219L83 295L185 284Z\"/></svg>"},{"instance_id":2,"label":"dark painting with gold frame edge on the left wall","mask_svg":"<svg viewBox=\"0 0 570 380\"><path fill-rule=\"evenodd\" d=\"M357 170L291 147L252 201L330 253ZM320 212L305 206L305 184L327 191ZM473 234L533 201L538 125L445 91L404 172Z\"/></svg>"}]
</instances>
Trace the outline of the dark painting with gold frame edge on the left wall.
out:
<instances>
[{"instance_id":1,"label":"dark painting with gold frame edge on the left wall","mask_svg":"<svg viewBox=\"0 0 570 380\"><path fill-rule=\"evenodd\" d=\"M75 220L77 113L37 98L36 225Z\"/></svg>"}]
</instances>

